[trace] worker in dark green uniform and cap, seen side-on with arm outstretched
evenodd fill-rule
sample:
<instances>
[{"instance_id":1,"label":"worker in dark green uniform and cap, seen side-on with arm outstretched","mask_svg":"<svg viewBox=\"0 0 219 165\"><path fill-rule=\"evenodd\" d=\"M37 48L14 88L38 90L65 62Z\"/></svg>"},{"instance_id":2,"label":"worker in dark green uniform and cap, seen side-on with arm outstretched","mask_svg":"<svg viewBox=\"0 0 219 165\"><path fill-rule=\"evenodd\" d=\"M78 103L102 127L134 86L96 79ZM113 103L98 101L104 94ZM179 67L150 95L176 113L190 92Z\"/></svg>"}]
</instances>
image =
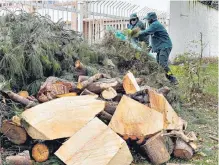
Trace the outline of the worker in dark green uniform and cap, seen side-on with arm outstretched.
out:
<instances>
[{"instance_id":1,"label":"worker in dark green uniform and cap, seen side-on with arm outstretched","mask_svg":"<svg viewBox=\"0 0 219 165\"><path fill-rule=\"evenodd\" d=\"M151 35L151 48L152 52L157 53L157 63L161 65L165 72L166 78L173 84L178 84L176 77L172 74L169 66L168 59L172 50L172 42L164 26L157 20L155 12L150 12L144 17L148 21L149 27L141 30L138 37Z\"/></svg>"}]
</instances>

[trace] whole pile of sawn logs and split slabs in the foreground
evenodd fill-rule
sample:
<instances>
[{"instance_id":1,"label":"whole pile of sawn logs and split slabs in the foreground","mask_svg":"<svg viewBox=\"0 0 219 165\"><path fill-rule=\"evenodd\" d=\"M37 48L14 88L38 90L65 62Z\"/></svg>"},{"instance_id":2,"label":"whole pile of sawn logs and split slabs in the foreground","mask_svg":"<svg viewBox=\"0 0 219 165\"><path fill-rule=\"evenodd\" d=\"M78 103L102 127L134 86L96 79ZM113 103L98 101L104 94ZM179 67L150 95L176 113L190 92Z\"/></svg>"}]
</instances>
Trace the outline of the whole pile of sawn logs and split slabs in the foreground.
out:
<instances>
[{"instance_id":1,"label":"whole pile of sawn logs and split slabs in the foreground","mask_svg":"<svg viewBox=\"0 0 219 165\"><path fill-rule=\"evenodd\" d=\"M30 156L18 154L6 161L25 160L29 165L54 154L67 165L128 165L133 158L126 142L139 145L152 164L165 163L172 155L192 158L197 138L186 132L187 123L166 100L169 88L140 87L143 79L131 72L123 79L88 77L79 61L76 69L77 83L49 77L37 99L26 92L4 91L27 108L21 116L3 121L1 132L16 145L32 141Z\"/></svg>"}]
</instances>

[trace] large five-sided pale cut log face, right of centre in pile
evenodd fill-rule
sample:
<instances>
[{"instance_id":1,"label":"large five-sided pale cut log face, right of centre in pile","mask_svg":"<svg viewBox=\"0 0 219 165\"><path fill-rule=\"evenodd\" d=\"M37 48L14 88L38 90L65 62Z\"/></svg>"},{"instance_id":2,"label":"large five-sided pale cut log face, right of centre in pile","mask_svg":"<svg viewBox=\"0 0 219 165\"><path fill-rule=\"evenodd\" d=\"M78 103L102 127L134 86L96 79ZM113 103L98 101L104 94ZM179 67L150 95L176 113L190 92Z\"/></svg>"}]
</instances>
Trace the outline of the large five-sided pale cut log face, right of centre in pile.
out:
<instances>
[{"instance_id":1,"label":"large five-sided pale cut log face, right of centre in pile","mask_svg":"<svg viewBox=\"0 0 219 165\"><path fill-rule=\"evenodd\" d=\"M123 96L109 124L119 135L139 139L163 129L163 115L127 96Z\"/></svg>"}]
</instances>

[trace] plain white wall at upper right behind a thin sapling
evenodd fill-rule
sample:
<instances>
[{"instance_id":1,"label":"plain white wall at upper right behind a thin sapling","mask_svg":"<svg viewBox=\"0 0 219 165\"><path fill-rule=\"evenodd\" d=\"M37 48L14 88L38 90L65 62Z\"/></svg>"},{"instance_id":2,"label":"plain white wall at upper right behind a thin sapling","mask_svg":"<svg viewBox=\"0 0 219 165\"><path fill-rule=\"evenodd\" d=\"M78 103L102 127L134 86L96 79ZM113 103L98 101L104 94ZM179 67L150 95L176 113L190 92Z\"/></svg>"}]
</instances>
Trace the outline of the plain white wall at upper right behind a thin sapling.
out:
<instances>
[{"instance_id":1,"label":"plain white wall at upper right behind a thin sapling","mask_svg":"<svg viewBox=\"0 0 219 165\"><path fill-rule=\"evenodd\" d=\"M199 2L171 1L169 34L173 42L170 60L177 54L189 50L200 52L200 44L195 47L191 41L200 40L207 44L203 55L205 57L218 56L218 11Z\"/></svg>"}]
</instances>

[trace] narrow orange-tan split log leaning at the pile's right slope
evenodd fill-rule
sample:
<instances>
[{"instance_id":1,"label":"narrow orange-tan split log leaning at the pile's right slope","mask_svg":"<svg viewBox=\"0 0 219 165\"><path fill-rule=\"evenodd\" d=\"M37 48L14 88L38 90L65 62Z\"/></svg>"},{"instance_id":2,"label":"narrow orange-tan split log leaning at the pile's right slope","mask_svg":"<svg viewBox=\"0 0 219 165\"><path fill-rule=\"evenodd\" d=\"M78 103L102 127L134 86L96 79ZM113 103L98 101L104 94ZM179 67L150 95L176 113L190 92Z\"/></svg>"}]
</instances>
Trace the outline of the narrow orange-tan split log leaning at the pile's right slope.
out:
<instances>
[{"instance_id":1,"label":"narrow orange-tan split log leaning at the pile's right slope","mask_svg":"<svg viewBox=\"0 0 219 165\"><path fill-rule=\"evenodd\" d=\"M150 107L163 114L165 129L178 129L180 119L166 98L155 90L148 89Z\"/></svg>"}]
</instances>

